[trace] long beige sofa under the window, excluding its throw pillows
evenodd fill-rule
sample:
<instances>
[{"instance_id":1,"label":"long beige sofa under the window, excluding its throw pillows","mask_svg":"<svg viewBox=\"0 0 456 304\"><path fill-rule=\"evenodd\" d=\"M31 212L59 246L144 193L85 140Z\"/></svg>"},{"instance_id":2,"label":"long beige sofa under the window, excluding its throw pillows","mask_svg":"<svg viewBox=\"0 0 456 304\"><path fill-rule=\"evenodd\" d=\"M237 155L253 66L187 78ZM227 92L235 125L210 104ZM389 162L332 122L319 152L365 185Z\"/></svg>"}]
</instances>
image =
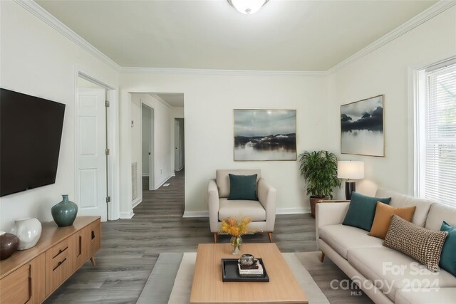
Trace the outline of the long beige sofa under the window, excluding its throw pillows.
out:
<instances>
[{"instance_id":1,"label":"long beige sofa under the window, excluding its throw pillows","mask_svg":"<svg viewBox=\"0 0 456 304\"><path fill-rule=\"evenodd\" d=\"M442 221L456 226L456 208L385 189L375 197L391 197L391 206L417 206L413 224L440 230ZM456 277L440 269L432 273L413 258L382 245L368 231L342 225L348 202L316 207L316 239L326 255L375 303L456 303ZM456 248L455 248L456 250Z\"/></svg>"}]
</instances>

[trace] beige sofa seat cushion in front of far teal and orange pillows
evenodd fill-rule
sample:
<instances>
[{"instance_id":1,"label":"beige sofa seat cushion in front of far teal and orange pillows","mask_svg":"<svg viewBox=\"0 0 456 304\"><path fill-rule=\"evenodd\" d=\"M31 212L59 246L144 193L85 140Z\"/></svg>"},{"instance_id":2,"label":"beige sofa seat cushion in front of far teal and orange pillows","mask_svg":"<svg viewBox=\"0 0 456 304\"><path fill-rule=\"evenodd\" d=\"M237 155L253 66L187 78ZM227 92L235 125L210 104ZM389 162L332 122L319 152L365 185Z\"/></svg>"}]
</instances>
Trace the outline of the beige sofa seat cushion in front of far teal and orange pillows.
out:
<instances>
[{"instance_id":1,"label":"beige sofa seat cushion in front of far teal and orange pillows","mask_svg":"<svg viewBox=\"0 0 456 304\"><path fill-rule=\"evenodd\" d=\"M352 226L328 225L318 229L320 239L328 243L337 253L347 259L351 248L382 247L382 239L368 236L367 232Z\"/></svg>"}]
</instances>

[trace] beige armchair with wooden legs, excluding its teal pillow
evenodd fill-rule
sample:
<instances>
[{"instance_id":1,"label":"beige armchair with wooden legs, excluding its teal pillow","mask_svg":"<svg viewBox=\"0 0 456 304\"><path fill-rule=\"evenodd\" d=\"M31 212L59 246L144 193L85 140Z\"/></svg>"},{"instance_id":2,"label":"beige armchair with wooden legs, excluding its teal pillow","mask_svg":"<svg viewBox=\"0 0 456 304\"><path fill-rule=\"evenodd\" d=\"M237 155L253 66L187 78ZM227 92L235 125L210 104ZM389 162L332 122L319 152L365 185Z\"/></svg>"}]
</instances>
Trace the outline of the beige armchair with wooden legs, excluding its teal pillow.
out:
<instances>
[{"instance_id":1,"label":"beige armchair with wooden legs, excluding its teal pillow","mask_svg":"<svg viewBox=\"0 0 456 304\"><path fill-rule=\"evenodd\" d=\"M229 175L257 174L258 201L228 200ZM209 204L209 224L214 243L217 243L217 233L222 226L222 219L232 216L239 218L250 216L250 227L257 231L267 232L272 241L272 232L276 221L276 189L261 178L261 170L217 170L216 179L209 180L207 187Z\"/></svg>"}]
</instances>

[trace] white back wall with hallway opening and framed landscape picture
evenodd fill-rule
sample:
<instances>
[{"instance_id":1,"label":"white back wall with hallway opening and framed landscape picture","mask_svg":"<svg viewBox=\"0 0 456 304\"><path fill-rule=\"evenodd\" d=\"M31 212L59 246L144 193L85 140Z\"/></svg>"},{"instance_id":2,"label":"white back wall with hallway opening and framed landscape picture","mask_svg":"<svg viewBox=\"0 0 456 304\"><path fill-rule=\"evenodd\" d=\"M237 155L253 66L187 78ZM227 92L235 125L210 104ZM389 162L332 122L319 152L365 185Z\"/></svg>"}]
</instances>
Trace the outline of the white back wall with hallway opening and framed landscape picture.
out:
<instances>
[{"instance_id":1,"label":"white back wall with hallway opening and framed landscape picture","mask_svg":"<svg viewBox=\"0 0 456 304\"><path fill-rule=\"evenodd\" d=\"M207 211L207 182L215 177L216 169L222 168L259 168L278 190L278 208L302 210L309 207L298 162L233 161L233 109L296 109L298 152L325 149L331 147L331 142L326 140L331 132L326 124L326 78L314 75L125 73L121 75L121 82L121 113L130 110L126 103L130 92L184 93L186 212ZM121 117L120 125L120 147L125 152L121 162L128 164L130 155L125 149L130 147L128 120ZM170 166L173 162L170 159ZM128 172L128 167L123 166L123 170ZM128 181L121 181L121 184L125 182ZM128 195L127 192L121 194L125 198ZM122 208L128 213L128 205Z\"/></svg>"}]
</instances>

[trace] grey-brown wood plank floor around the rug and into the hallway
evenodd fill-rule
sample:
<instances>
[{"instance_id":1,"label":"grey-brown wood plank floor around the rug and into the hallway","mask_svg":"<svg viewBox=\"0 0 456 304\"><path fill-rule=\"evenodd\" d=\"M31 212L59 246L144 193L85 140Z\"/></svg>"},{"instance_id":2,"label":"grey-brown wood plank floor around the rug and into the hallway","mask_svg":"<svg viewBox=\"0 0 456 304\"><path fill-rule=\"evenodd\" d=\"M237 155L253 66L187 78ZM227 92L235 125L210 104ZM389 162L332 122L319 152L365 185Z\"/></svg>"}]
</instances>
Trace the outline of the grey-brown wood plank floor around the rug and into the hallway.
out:
<instances>
[{"instance_id":1,"label":"grey-brown wood plank floor around the rug and into the hallway","mask_svg":"<svg viewBox=\"0 0 456 304\"><path fill-rule=\"evenodd\" d=\"M184 174L177 172L168 182L169 187L143 193L133 219L102 223L97 266L85 263L46 303L136 303L160 253L196 251L198 243L212 243L207 218L182 218ZM316 251L310 214L276 216L273 237L282 252ZM266 234L243 239L269 241Z\"/></svg>"}]
</instances>

